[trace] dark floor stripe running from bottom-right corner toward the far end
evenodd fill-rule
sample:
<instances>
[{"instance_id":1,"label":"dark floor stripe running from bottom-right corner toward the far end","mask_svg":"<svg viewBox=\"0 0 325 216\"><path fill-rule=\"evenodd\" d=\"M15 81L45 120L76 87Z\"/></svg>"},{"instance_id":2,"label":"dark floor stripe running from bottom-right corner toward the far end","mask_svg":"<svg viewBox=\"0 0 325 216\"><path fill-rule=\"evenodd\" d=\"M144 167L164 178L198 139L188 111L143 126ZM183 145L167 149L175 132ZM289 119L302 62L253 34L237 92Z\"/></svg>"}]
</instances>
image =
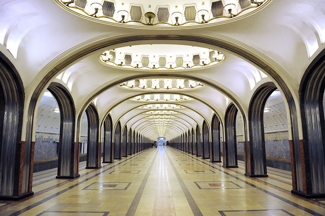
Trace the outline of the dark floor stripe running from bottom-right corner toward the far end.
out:
<instances>
[{"instance_id":1,"label":"dark floor stripe running from bottom-right corner toward the far end","mask_svg":"<svg viewBox=\"0 0 325 216\"><path fill-rule=\"evenodd\" d=\"M173 147L172 147L173 148ZM177 149L174 149L175 151L179 151L179 150L177 150ZM181 152L181 153L183 153L182 151L179 151L179 152ZM186 153L183 153L184 155L187 155ZM297 204L297 203L295 203L295 202L293 202L293 201L290 201L290 200L287 200L287 199L285 199L285 198L283 198L283 197L281 197L281 196L279 196L279 195L276 195L276 194L274 194L274 193L272 193L272 192L270 192L270 191L267 191L267 190L265 190L265 189L263 189L263 188L260 188L260 187L258 187L258 186L256 186L256 185L254 185L254 184L252 184L252 183L249 183L249 182L246 182L245 180L243 180L243 179L241 179L241 178L239 178L239 177L237 177L237 176L235 176L235 175L233 175L233 174L230 174L230 173L228 173L228 172L225 172L225 171L223 171L223 170L221 170L221 169L219 169L219 168L217 168L217 167L215 167L215 166L212 166L211 164L208 164L207 162L205 162L205 161L201 161L201 160L199 160L199 159L197 159L197 158L194 158L194 157L192 157L192 156L189 156L189 155L187 155L188 157L191 157L191 158L193 158L193 159L196 159L197 161L200 161L200 162L202 162L202 163L204 163L204 164L206 164L206 165L208 165L208 166L210 166L210 167L212 167L212 168L214 168L214 169L216 169L216 170L218 170L218 171L220 171L220 172L223 172L224 174L226 174L226 175L229 175L229 176L231 176L231 177L233 177L233 178L236 178L237 180L239 180L239 181L241 181L241 182L243 182L243 183L245 183L245 184L247 184L247 185L249 185L249 186L251 186L251 187L253 187L253 188L256 188L257 190L259 190L259 191L262 191L262 192L264 192L264 193L266 193L266 194L268 194L268 195L271 195L271 196L273 196L273 197L275 197L275 198L277 198L277 199L279 199L279 200L281 200L281 201L283 201L283 202L285 202L285 203L287 203L287 204L289 204L289 205L292 205L292 206L295 206L295 207L297 207L297 208L299 208L299 209L301 209L301 210L303 210L303 211L306 211L306 212L308 212L308 213L310 213L310 214L312 214L312 215L319 215L319 216L322 216L322 214L320 214L320 213L318 213L318 212L316 212L316 211L313 211L313 210L311 210L311 209L309 209L309 208L306 208L306 207L304 207L304 206L302 206L302 205L299 205L299 204Z\"/></svg>"}]
</instances>

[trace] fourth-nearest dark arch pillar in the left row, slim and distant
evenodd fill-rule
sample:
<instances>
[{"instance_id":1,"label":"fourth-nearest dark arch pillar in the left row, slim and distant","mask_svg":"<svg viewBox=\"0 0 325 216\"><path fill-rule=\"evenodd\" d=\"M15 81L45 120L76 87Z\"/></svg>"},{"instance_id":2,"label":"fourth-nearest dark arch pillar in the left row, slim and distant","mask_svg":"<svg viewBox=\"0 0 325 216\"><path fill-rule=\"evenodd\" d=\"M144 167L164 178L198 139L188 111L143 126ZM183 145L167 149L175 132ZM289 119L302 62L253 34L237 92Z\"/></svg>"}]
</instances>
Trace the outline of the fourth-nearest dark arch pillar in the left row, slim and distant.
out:
<instances>
[{"instance_id":1,"label":"fourth-nearest dark arch pillar in the left row, slim and distant","mask_svg":"<svg viewBox=\"0 0 325 216\"><path fill-rule=\"evenodd\" d=\"M112 118L107 115L104 121L104 147L103 147L103 163L112 163L114 161L114 145Z\"/></svg>"}]
</instances>

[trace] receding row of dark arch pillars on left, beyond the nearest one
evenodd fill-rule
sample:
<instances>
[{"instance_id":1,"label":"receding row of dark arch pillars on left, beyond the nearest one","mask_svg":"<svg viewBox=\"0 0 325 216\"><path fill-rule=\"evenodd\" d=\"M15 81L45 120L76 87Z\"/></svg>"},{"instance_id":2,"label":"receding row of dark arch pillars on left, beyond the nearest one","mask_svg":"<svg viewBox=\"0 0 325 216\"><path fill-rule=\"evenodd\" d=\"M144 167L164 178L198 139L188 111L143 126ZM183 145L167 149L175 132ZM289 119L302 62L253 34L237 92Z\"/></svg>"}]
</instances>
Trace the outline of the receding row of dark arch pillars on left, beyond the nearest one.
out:
<instances>
[{"instance_id":1,"label":"receding row of dark arch pillars on left, beyond the nearest one","mask_svg":"<svg viewBox=\"0 0 325 216\"><path fill-rule=\"evenodd\" d=\"M102 156L103 163L111 163L114 159L121 159L151 147L148 144L150 140L140 133L136 134L135 131L132 133L131 129L127 130L126 125L122 130L119 121L114 129L110 115L107 115L103 122L102 136L100 136L99 115L93 103L87 106L84 114L86 119L86 140L82 143L83 147L80 146L80 142L78 146L74 142L75 109L70 93L59 83L52 83L48 87L48 91L51 92L55 100L57 99L60 113L59 142L57 143L58 172L56 178L75 178L79 176L78 165L81 149L86 155L86 169L96 169L101 167ZM51 119L48 121L51 121ZM133 139L132 135L137 136L137 138ZM100 140L101 138L102 140ZM46 154L47 152L43 153ZM30 159L32 160L32 158Z\"/></svg>"}]
</instances>

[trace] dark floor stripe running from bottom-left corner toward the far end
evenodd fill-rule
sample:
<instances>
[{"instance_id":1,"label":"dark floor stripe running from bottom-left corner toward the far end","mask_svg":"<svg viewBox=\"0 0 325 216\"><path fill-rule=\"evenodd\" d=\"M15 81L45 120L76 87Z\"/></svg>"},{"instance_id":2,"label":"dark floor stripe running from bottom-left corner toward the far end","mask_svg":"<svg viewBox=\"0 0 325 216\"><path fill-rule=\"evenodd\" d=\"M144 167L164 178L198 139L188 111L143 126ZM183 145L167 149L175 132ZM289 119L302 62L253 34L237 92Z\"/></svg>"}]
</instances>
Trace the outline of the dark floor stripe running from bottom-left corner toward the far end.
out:
<instances>
[{"instance_id":1,"label":"dark floor stripe running from bottom-left corner toward the far end","mask_svg":"<svg viewBox=\"0 0 325 216\"><path fill-rule=\"evenodd\" d=\"M149 149L147 149L147 150L149 150ZM144 150L144 151L140 152L139 154L137 154L137 155L135 155L135 156L133 156L133 157L136 157L136 156L138 156L138 155L140 155L140 154L146 152L147 150ZM131 158L133 158L133 157L131 157ZM131 159L131 158L128 158L128 159L126 159L126 160L129 160L129 159ZM70 187L68 187L68 188L66 188L66 189L63 189L63 190L61 190L61 191L59 191L59 192L57 192L57 193L55 193L55 194L53 194L53 195L51 195L51 196L49 196L49 197L43 199L43 200L41 200L41 201L38 201L38 202L36 202L36 203L34 203L34 204L31 204L31 205L29 205L29 206L27 206L27 207L25 207L25 208L23 208L23 209L21 209L21 210L19 210L19 211L16 211L16 212L14 212L14 213L12 213L12 214L10 214L10 215L12 215L12 216L14 216L14 215L19 215L19 214L24 213L25 211L28 211L28 210L30 210L30 209L32 209L32 208L35 208L36 206L41 205L41 204L43 204L43 203L49 201L50 199L53 199L54 197L57 197L58 195L63 194L64 192L67 192L67 191L69 191L69 190L71 190L71 189L73 189L73 188L75 188L75 187L77 187L77 186L79 186L79 185L81 185L81 184L87 182L87 181L90 180L91 178L94 178L94 177L96 177L96 176L98 176L98 175L100 175L100 174L106 172L107 170L110 170L110 169L112 169L113 167L115 167L115 166L117 166L117 165L119 165L119 164L121 164L121 163L124 163L126 160L123 160L123 161L121 161L121 162L119 162L119 163L117 163L117 164L114 164L113 166L111 166L111 167L109 167L109 168L107 168L107 169L105 169L105 170L103 170L103 171L100 171L99 173L96 173L96 174L94 174L93 176L90 176L90 177L84 179L83 181L81 181L81 182L79 182L79 183L76 183L75 185L72 185L72 186L70 186ZM79 178L75 178L74 180L76 180L76 179L79 179ZM34 196L33 196L33 197L34 197Z\"/></svg>"}]
</instances>

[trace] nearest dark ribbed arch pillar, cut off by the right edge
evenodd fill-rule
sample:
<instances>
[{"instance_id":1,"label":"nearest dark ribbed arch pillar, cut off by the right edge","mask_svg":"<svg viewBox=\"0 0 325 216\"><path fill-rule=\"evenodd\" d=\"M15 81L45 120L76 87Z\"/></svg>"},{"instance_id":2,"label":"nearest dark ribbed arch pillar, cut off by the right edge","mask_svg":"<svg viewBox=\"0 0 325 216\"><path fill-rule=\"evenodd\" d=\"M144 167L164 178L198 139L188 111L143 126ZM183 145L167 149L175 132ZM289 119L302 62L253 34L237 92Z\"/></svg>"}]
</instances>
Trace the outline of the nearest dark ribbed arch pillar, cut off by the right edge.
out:
<instances>
[{"instance_id":1,"label":"nearest dark ribbed arch pillar, cut off by the right edge","mask_svg":"<svg viewBox=\"0 0 325 216\"><path fill-rule=\"evenodd\" d=\"M295 165L303 170L303 187L301 190L297 182L297 190L294 187L292 192L307 197L325 196L324 59L325 50L308 66L299 89L304 139L300 140L301 163L298 158Z\"/></svg>"}]
</instances>

